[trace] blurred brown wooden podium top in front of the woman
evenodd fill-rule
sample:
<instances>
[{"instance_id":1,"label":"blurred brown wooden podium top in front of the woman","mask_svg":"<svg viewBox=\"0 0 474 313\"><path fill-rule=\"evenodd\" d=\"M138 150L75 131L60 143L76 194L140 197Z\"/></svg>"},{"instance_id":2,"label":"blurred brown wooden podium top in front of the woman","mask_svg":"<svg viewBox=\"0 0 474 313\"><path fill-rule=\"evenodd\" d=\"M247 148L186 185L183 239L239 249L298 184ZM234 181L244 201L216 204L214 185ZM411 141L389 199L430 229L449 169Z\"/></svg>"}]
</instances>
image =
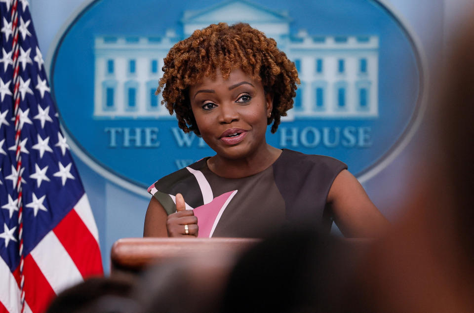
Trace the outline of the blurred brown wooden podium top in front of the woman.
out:
<instances>
[{"instance_id":1,"label":"blurred brown wooden podium top in front of the woman","mask_svg":"<svg viewBox=\"0 0 474 313\"><path fill-rule=\"evenodd\" d=\"M122 238L112 246L111 275L138 274L153 264L173 258L212 257L236 259L242 252L260 242L252 238Z\"/></svg>"}]
</instances>

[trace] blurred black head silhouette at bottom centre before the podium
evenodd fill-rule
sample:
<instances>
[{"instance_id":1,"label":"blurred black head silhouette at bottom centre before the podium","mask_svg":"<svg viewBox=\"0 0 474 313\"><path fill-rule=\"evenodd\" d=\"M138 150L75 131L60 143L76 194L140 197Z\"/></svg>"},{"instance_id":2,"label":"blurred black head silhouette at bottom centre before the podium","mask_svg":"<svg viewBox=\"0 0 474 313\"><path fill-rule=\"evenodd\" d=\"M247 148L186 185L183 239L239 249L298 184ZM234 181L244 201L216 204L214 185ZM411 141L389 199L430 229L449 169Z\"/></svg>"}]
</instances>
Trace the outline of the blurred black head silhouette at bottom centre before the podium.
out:
<instances>
[{"instance_id":1,"label":"blurred black head silhouette at bottom centre before the podium","mask_svg":"<svg viewBox=\"0 0 474 313\"><path fill-rule=\"evenodd\" d=\"M287 229L245 253L220 312L340 312L367 243Z\"/></svg>"}]
</instances>

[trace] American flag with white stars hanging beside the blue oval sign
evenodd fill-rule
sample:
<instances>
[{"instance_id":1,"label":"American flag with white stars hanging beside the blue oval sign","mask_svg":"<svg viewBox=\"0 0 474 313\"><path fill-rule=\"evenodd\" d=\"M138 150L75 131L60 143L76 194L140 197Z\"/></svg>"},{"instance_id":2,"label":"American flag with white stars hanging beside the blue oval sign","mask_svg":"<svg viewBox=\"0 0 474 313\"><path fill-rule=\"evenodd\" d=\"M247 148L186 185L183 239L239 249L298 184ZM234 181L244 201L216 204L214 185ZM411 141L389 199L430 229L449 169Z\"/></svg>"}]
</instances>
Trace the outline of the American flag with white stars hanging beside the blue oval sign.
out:
<instances>
[{"instance_id":1,"label":"American flag with white stars hanging beside the blue oval sign","mask_svg":"<svg viewBox=\"0 0 474 313\"><path fill-rule=\"evenodd\" d=\"M28 1L0 0L0 11L0 312L42 312L58 292L103 274L98 232Z\"/></svg>"}]
</instances>

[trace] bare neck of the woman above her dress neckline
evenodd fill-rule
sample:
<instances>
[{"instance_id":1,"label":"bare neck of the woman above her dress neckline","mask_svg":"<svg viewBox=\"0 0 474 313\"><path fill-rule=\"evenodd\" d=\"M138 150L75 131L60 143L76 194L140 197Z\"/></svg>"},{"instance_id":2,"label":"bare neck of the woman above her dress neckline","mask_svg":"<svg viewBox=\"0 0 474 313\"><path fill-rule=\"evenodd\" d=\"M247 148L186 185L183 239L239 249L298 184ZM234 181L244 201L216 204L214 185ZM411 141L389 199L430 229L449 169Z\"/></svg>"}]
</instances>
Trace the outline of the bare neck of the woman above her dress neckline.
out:
<instances>
[{"instance_id":1,"label":"bare neck of the woman above her dress neckline","mask_svg":"<svg viewBox=\"0 0 474 313\"><path fill-rule=\"evenodd\" d=\"M264 171L276 161L281 152L280 149L267 144L263 151L244 158L230 159L215 155L207 159L207 167L221 177L247 177Z\"/></svg>"}]
</instances>

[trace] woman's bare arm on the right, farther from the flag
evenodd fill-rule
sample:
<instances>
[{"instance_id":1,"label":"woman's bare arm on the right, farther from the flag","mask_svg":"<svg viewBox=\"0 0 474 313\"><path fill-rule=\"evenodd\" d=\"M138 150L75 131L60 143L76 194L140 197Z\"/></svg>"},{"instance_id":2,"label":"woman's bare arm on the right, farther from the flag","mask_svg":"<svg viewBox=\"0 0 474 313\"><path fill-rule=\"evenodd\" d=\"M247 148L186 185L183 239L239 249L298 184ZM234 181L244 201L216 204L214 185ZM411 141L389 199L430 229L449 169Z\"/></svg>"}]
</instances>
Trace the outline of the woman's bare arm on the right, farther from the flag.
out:
<instances>
[{"instance_id":1,"label":"woman's bare arm on the right, farther from the flag","mask_svg":"<svg viewBox=\"0 0 474 313\"><path fill-rule=\"evenodd\" d=\"M327 203L334 222L346 237L380 237L390 228L390 223L348 170L341 171L334 179Z\"/></svg>"}]
</instances>

